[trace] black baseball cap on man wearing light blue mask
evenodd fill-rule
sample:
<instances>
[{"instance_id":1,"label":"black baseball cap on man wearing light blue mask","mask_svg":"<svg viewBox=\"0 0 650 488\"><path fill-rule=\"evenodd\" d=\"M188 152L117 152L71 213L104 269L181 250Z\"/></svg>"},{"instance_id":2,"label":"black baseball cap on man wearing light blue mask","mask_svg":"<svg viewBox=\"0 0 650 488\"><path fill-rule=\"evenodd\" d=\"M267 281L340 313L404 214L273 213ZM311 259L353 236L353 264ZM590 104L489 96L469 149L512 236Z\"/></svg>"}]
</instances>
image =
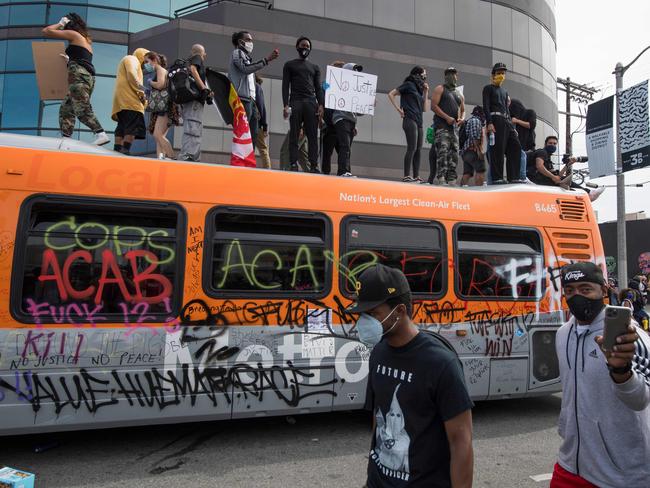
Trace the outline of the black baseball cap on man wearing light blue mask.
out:
<instances>
[{"instance_id":1,"label":"black baseball cap on man wearing light blue mask","mask_svg":"<svg viewBox=\"0 0 650 488\"><path fill-rule=\"evenodd\" d=\"M359 275L355 282L357 301L346 311L363 313L407 293L411 288L399 269L375 264Z\"/></svg>"}]
</instances>

